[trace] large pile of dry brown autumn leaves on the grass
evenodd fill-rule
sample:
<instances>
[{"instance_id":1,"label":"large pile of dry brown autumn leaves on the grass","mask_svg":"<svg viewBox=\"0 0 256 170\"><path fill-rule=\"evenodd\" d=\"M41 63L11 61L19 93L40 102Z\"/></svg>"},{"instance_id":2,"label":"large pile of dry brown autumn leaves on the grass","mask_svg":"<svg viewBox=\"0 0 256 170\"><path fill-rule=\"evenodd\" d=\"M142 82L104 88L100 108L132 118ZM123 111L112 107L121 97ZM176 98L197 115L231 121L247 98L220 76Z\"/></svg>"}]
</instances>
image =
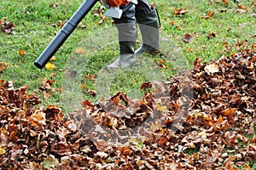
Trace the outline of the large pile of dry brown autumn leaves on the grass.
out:
<instances>
[{"instance_id":1,"label":"large pile of dry brown autumn leaves on the grass","mask_svg":"<svg viewBox=\"0 0 256 170\"><path fill-rule=\"evenodd\" d=\"M123 93L86 100L64 116L11 82L0 87L2 169L250 169L256 161L256 51L156 84L132 101ZM142 88L151 88L149 82ZM255 166L255 165L254 165Z\"/></svg>"}]
</instances>

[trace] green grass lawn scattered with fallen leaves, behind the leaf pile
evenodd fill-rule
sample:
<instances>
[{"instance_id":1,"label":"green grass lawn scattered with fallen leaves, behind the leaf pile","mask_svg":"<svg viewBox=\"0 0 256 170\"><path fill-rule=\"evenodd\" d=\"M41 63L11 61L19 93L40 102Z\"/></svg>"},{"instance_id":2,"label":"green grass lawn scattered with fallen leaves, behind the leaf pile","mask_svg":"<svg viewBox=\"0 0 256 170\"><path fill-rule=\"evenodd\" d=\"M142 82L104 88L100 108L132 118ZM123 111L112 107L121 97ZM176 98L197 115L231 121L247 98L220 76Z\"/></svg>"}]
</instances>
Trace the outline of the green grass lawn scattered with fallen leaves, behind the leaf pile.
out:
<instances>
[{"instance_id":1,"label":"green grass lawn scattered with fallen leaves, behind the leaf pile","mask_svg":"<svg viewBox=\"0 0 256 170\"><path fill-rule=\"evenodd\" d=\"M95 90L97 93L97 89L109 88L109 95L122 90L137 98L140 95L137 91L143 82L152 78L161 80L158 75L163 75L166 81L170 81L177 72L192 68L196 58L208 62L211 59L232 56L244 48L255 48L255 1L230 1L229 4L224 1L211 3L199 0L149 2L158 8L162 50L168 52L167 48L170 48L170 58L164 60L160 55L144 56L149 59L148 62L154 64L152 67L138 71L117 71L113 76L102 68L119 54L115 39L117 32L113 20L106 18L102 23L102 17L96 13L101 7L100 3L84 17L78 28L55 54L55 59L50 60L55 67L39 70L33 64L34 61L82 1L2 0L0 20L13 21L15 28L11 33L0 32L0 62L9 64L9 67L0 73L0 79L12 81L15 87L27 84L29 93L42 96L42 105L60 105L65 110L63 99L68 103L75 98L74 95L82 95L83 99L96 101ZM165 42L166 39L171 42ZM73 63L74 61L76 63ZM79 62L83 65L78 65ZM159 64L161 67L155 69L155 65ZM73 70L82 71L79 72L81 77L68 77L67 74L72 74ZM148 74L151 79L148 79ZM111 77L113 79L109 87L102 88L104 84L99 81L105 80L103 78L108 81ZM47 88L46 82L53 84L49 89L38 90ZM79 84L76 84L77 82ZM63 88L73 87L79 88L75 90L81 94L61 95ZM100 97L104 97L104 92L101 93ZM250 167L256 168L255 163Z\"/></svg>"}]
</instances>

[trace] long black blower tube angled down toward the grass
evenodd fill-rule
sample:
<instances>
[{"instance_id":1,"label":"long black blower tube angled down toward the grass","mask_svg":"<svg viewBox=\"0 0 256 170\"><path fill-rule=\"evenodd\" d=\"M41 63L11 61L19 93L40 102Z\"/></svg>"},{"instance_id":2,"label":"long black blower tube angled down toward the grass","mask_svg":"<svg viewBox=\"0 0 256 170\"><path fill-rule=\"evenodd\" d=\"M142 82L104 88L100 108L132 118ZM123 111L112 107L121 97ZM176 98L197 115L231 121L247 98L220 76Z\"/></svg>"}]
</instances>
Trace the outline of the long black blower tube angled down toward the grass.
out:
<instances>
[{"instance_id":1,"label":"long black blower tube angled down toward the grass","mask_svg":"<svg viewBox=\"0 0 256 170\"><path fill-rule=\"evenodd\" d=\"M44 68L49 59L61 48L61 45L67 40L72 32L79 25L84 16L88 14L91 8L97 3L98 0L85 0L79 9L73 14L73 16L67 21L67 23L61 28L61 31L55 36L55 38L44 49L38 59L34 62L39 69Z\"/></svg>"}]
</instances>

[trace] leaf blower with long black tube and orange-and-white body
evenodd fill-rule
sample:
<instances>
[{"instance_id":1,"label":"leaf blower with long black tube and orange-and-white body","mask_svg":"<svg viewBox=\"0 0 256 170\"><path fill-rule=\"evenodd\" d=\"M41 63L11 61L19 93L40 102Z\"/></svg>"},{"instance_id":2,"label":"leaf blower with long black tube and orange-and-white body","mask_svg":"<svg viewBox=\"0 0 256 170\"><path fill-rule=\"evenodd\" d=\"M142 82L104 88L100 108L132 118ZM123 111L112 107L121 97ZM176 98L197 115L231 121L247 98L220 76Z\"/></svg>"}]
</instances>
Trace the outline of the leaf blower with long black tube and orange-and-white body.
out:
<instances>
[{"instance_id":1,"label":"leaf blower with long black tube and orange-and-white body","mask_svg":"<svg viewBox=\"0 0 256 170\"><path fill-rule=\"evenodd\" d=\"M84 19L84 16L89 13L90 9L99 0L85 0L84 3L78 8L73 16L67 20L67 23L61 28L61 31L49 42L49 45L40 54L38 59L34 62L39 69L43 69L49 59L61 48L61 45L67 40L75 28L79 25L80 21ZM137 4L137 0L101 0L101 3L108 8L106 16L113 18L120 18L122 13L131 8L133 3ZM125 4L125 8L119 9L119 6Z\"/></svg>"}]
</instances>

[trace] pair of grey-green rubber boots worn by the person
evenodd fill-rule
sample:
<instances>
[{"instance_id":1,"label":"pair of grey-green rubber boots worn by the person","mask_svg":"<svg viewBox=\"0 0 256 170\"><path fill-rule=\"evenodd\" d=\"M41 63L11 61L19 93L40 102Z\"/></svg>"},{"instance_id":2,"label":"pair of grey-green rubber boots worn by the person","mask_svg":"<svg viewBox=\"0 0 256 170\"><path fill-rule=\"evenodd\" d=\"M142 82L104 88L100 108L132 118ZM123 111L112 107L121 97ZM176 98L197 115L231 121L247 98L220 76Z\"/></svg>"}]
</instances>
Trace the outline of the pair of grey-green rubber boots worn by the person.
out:
<instances>
[{"instance_id":1,"label":"pair of grey-green rubber boots worn by the person","mask_svg":"<svg viewBox=\"0 0 256 170\"><path fill-rule=\"evenodd\" d=\"M155 54L160 49L159 23L155 8L149 14L140 14L137 24L143 37L143 44L136 48L137 26L133 23L116 25L119 33L119 59L107 68L125 68L136 64L136 54Z\"/></svg>"}]
</instances>

